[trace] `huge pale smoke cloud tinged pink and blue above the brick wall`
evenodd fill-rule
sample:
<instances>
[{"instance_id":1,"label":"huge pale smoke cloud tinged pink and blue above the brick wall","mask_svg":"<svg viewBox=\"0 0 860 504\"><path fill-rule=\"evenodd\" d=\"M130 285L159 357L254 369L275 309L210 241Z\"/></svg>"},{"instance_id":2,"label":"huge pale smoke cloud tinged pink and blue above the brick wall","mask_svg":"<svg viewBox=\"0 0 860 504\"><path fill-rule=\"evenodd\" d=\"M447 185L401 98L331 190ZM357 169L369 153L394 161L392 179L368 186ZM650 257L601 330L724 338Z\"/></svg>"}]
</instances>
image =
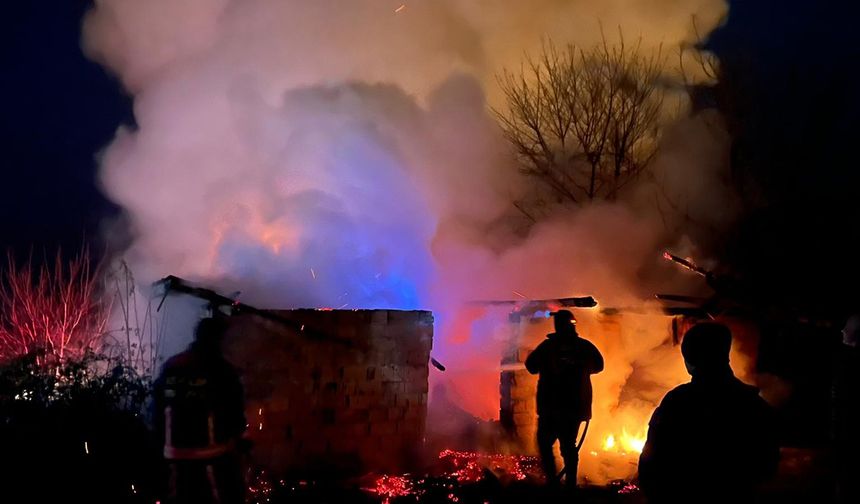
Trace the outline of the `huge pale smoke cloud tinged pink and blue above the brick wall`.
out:
<instances>
[{"instance_id":1,"label":"huge pale smoke cloud tinged pink and blue above the brick wall","mask_svg":"<svg viewBox=\"0 0 860 504\"><path fill-rule=\"evenodd\" d=\"M484 112L503 67L546 37L596 43L602 27L680 47L694 16L701 30L725 14L717 0L400 5L96 2L85 48L135 94L138 129L119 132L102 180L133 219L139 276L259 284L274 262L289 273L271 280L308 295L266 299L340 301L343 289L305 274L316 262L350 295L378 294L349 279L356 258L380 270L374 279L429 271L426 244L452 236L440 222L492 221L523 183Z\"/></svg>"}]
</instances>

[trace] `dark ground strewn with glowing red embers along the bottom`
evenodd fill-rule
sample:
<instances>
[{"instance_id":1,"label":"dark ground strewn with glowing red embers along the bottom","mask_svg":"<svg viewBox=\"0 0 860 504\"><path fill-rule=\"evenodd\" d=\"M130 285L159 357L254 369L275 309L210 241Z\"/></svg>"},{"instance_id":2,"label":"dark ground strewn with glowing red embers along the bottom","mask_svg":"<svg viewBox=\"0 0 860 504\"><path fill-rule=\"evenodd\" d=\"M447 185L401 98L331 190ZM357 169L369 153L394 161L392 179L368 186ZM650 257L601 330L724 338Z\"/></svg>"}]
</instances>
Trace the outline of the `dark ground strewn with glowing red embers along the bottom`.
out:
<instances>
[{"instance_id":1,"label":"dark ground strewn with glowing red embers along the bottom","mask_svg":"<svg viewBox=\"0 0 860 504\"><path fill-rule=\"evenodd\" d=\"M762 503L832 502L830 485L822 470L820 453L784 450L779 476L760 496ZM816 474L817 473L817 474ZM257 473L249 502L277 503L528 503L569 502L572 496L544 484L536 457L479 454L445 450L427 474L376 475L348 481L279 480ZM708 492L702 487L702 494ZM576 501L584 503L643 504L634 482L580 485ZM691 496L691 502L695 496Z\"/></svg>"}]
</instances>

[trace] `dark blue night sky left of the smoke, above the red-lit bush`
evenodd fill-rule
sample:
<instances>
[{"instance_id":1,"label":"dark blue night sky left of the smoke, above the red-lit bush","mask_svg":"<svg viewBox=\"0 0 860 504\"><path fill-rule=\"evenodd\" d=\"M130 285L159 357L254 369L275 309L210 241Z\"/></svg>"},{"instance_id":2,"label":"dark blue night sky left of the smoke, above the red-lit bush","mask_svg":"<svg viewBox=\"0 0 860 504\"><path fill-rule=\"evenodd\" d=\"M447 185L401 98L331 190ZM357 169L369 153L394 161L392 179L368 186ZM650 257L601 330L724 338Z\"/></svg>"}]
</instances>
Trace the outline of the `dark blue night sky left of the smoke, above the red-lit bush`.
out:
<instances>
[{"instance_id":1,"label":"dark blue night sky left of the smoke, above the red-lit bush","mask_svg":"<svg viewBox=\"0 0 860 504\"><path fill-rule=\"evenodd\" d=\"M118 212L96 186L96 154L131 120L131 100L81 53L88 4L3 6L0 248L76 251Z\"/></svg>"}]
</instances>

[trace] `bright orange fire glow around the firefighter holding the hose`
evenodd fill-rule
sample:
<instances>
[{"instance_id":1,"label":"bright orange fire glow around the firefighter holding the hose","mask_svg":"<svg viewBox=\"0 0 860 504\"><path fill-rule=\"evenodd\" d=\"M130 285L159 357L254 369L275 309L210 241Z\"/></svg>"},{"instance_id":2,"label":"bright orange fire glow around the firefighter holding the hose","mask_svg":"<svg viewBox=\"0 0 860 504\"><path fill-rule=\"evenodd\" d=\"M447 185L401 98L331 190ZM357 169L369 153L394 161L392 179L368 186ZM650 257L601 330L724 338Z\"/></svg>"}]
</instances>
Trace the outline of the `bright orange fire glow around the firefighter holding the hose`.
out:
<instances>
[{"instance_id":1,"label":"bright orange fire glow around the firefighter holding the hose","mask_svg":"<svg viewBox=\"0 0 860 504\"><path fill-rule=\"evenodd\" d=\"M591 377L592 419L581 447L581 453L590 456L580 459L579 477L596 485L630 479L645 447L654 409L666 392L690 379L680 349L673 343L672 319L656 310L639 314L578 310L576 316L577 330L597 346L605 361L603 372ZM538 378L521 371L521 366L531 349L552 332L552 320L529 319L512 332L518 337L519 362L506 363L503 368L516 373L514 407L537 416L532 398ZM522 421L518 427L528 453L536 452L529 444L535 439L536 422Z\"/></svg>"}]
</instances>

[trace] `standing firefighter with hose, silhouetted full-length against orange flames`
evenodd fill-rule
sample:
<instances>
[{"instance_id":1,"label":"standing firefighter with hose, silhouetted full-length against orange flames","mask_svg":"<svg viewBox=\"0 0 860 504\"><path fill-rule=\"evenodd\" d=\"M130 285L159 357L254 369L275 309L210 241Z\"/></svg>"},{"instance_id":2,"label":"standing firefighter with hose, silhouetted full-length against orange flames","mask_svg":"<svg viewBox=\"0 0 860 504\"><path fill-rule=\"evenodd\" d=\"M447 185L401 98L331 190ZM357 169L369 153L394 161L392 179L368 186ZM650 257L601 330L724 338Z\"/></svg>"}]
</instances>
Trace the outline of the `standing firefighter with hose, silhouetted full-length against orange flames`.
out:
<instances>
[{"instance_id":1,"label":"standing firefighter with hose, silhouetted full-length against orange flames","mask_svg":"<svg viewBox=\"0 0 860 504\"><path fill-rule=\"evenodd\" d=\"M603 371L603 356L576 332L576 319L568 310L553 314L555 332L548 334L526 358L526 369L539 374L537 390L537 444L547 481L558 482L553 445L559 443L567 485L576 485L579 448L576 436L582 422L591 419L591 375Z\"/></svg>"}]
</instances>

